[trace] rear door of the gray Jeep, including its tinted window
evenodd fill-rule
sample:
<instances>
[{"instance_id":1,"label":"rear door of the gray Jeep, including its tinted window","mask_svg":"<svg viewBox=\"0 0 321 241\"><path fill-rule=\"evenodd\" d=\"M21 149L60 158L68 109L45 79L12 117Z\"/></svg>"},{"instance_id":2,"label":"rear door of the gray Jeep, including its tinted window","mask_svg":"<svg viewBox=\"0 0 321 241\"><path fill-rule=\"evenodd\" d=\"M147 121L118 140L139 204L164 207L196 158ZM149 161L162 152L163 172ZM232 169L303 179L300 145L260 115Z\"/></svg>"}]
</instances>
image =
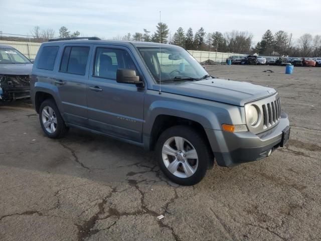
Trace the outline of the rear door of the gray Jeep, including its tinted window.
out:
<instances>
[{"instance_id":1,"label":"rear door of the gray Jeep, including its tinted window","mask_svg":"<svg viewBox=\"0 0 321 241\"><path fill-rule=\"evenodd\" d=\"M55 81L65 122L82 127L88 124L86 84L92 48L90 44L65 44Z\"/></svg>"}]
</instances>

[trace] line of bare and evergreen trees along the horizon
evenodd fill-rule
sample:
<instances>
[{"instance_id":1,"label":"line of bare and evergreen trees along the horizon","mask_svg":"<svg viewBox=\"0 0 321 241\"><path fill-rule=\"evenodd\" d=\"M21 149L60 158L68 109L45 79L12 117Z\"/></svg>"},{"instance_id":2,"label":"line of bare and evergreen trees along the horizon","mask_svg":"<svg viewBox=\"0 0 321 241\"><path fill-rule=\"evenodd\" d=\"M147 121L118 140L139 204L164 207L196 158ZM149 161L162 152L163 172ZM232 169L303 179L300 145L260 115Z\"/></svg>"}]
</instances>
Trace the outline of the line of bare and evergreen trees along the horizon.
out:
<instances>
[{"instance_id":1,"label":"line of bare and evergreen trees along the horizon","mask_svg":"<svg viewBox=\"0 0 321 241\"><path fill-rule=\"evenodd\" d=\"M41 29L35 26L31 31L35 42L48 41L55 37L53 29ZM60 38L78 37L79 31L71 33L65 26L59 29ZM297 57L319 57L321 56L321 36L303 34L294 40L292 34L283 30L272 33L267 30L255 46L253 46L253 34L247 31L233 30L224 34L206 32L203 27L195 34L192 28L184 31L182 27L172 35L165 23L158 23L156 31L151 34L147 29L142 32L128 33L125 36L116 36L113 40L144 41L156 43L168 43L181 46L187 50L217 51L239 54L254 54L272 56L297 56Z\"/></svg>"}]
</instances>

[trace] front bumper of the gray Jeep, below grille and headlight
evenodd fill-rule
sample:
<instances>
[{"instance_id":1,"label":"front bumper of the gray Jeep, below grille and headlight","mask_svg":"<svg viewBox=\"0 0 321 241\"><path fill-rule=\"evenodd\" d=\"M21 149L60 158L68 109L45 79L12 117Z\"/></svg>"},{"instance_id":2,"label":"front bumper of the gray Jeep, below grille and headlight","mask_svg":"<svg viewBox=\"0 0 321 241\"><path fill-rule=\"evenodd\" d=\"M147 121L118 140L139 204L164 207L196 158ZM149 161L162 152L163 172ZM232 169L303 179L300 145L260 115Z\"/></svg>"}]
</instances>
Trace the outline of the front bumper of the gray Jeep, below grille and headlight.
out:
<instances>
[{"instance_id":1,"label":"front bumper of the gray Jeep, below grille and headlight","mask_svg":"<svg viewBox=\"0 0 321 241\"><path fill-rule=\"evenodd\" d=\"M265 158L276 150L282 140L282 131L289 127L285 112L272 129L253 134L251 132L230 133L206 129L215 159L219 166L230 167L240 163Z\"/></svg>"}]
</instances>

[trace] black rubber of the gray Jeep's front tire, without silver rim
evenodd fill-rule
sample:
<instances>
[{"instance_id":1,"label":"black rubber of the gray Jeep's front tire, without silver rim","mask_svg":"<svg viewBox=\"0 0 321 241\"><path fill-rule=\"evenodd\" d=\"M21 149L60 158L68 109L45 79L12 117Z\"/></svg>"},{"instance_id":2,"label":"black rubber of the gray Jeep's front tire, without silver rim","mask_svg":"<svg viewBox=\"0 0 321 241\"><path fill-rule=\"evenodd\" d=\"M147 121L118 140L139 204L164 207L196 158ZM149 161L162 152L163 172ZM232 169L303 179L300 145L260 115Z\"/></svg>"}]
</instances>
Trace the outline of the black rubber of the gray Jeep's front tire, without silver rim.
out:
<instances>
[{"instance_id":1,"label":"black rubber of the gray Jeep's front tire, without silver rim","mask_svg":"<svg viewBox=\"0 0 321 241\"><path fill-rule=\"evenodd\" d=\"M182 137L186 139L195 148L198 155L198 165L193 175L189 177L178 177L168 170L163 161L163 146L172 137ZM189 145L189 144L186 144ZM164 131L159 136L155 153L159 167L165 175L175 183L185 186L191 186L200 182L207 174L210 167L213 166L214 156L209 144L204 137L189 126L174 126ZM190 159L188 159L190 160ZM181 167L183 164L180 164ZM183 168L183 167L182 167Z\"/></svg>"}]
</instances>

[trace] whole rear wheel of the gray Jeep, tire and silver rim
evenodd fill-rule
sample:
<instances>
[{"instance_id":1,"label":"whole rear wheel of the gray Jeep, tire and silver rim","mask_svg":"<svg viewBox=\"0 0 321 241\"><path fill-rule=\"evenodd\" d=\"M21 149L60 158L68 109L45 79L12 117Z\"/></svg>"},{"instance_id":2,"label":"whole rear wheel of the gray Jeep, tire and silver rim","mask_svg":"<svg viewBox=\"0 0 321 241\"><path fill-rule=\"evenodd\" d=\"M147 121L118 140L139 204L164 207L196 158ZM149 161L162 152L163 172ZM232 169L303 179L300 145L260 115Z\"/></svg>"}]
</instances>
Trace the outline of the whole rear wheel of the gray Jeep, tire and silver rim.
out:
<instances>
[{"instance_id":1,"label":"whole rear wheel of the gray Jeep, tire and silver rim","mask_svg":"<svg viewBox=\"0 0 321 241\"><path fill-rule=\"evenodd\" d=\"M61 138L69 130L53 99L46 99L41 103L39 121L42 130L49 138Z\"/></svg>"}]
</instances>

